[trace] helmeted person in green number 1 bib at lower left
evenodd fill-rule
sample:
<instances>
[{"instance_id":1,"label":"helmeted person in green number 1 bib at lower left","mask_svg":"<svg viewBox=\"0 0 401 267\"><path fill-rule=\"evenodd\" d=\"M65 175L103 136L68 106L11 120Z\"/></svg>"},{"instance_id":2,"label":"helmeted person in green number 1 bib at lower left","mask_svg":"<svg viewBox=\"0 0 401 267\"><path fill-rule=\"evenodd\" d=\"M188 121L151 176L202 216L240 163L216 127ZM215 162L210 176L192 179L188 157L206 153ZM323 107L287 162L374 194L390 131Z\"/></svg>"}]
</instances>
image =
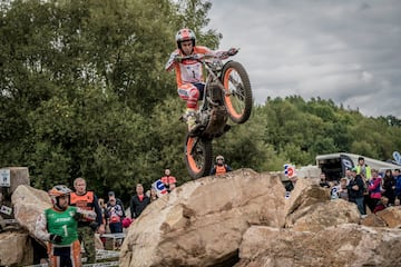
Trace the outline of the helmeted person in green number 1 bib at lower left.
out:
<instances>
[{"instance_id":1,"label":"helmeted person in green number 1 bib at lower left","mask_svg":"<svg viewBox=\"0 0 401 267\"><path fill-rule=\"evenodd\" d=\"M46 209L36 221L36 236L48 243L49 264L55 267L82 266L77 220L96 218L94 211L69 206L70 194L71 189L62 185L50 189L52 207Z\"/></svg>"}]
</instances>

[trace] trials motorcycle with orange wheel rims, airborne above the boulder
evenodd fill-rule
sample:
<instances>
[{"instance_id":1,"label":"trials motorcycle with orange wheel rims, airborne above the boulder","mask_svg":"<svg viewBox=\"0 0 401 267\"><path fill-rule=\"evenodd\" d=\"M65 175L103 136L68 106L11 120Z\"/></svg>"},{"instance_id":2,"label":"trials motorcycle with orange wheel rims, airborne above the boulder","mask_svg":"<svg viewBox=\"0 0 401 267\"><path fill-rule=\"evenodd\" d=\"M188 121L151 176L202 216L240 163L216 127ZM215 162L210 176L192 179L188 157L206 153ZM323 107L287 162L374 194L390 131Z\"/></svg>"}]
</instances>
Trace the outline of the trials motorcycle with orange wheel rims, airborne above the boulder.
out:
<instances>
[{"instance_id":1,"label":"trials motorcycle with orange wheel rims, airborne above the boulder","mask_svg":"<svg viewBox=\"0 0 401 267\"><path fill-rule=\"evenodd\" d=\"M228 118L234 123L248 120L253 106L252 88L248 75L239 62L229 60L224 63L211 55L185 56L182 60L197 60L205 70L204 93L196 111L198 126L186 135L184 147L188 174L197 179L209 175L214 161L212 141L229 130Z\"/></svg>"}]
</instances>

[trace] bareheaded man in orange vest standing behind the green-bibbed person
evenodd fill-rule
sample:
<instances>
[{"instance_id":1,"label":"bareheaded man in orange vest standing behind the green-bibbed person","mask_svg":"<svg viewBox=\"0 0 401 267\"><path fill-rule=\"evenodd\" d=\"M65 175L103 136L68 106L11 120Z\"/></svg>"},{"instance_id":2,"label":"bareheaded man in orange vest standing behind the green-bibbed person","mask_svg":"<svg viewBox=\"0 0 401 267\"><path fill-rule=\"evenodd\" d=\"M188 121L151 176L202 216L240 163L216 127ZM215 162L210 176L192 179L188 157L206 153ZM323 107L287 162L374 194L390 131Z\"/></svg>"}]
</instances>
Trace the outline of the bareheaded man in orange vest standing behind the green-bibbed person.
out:
<instances>
[{"instance_id":1,"label":"bareheaded man in orange vest standing behind the green-bibbed person","mask_svg":"<svg viewBox=\"0 0 401 267\"><path fill-rule=\"evenodd\" d=\"M96 261L95 233L105 234L105 225L98 198L94 191L87 191L86 187L84 178L79 177L74 180L75 192L71 192L70 205L96 212L96 222L85 218L78 221L78 237L79 241L84 244L87 264L94 264Z\"/></svg>"}]
</instances>

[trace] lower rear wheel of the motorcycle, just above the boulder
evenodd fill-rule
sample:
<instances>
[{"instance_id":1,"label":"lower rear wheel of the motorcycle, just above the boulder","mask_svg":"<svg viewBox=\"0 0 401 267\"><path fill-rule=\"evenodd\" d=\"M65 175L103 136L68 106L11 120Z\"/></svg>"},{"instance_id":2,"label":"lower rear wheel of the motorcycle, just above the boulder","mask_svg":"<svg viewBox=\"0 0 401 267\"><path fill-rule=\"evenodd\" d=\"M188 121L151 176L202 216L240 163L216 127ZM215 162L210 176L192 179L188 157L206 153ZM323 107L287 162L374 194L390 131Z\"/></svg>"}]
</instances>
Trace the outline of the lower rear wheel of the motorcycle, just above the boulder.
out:
<instances>
[{"instance_id":1,"label":"lower rear wheel of the motorcycle, just above the boulder","mask_svg":"<svg viewBox=\"0 0 401 267\"><path fill-rule=\"evenodd\" d=\"M212 139L192 137L185 141L185 165L192 178L208 176L213 164Z\"/></svg>"}]
</instances>

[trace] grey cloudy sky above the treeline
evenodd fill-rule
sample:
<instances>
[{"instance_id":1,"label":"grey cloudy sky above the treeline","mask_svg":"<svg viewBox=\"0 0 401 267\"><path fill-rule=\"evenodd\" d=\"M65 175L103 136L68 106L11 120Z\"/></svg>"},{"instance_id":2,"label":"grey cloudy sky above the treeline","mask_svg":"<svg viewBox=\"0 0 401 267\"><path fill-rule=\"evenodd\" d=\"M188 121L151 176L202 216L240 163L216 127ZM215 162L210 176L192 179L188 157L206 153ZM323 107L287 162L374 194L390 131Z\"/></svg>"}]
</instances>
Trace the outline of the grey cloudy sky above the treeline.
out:
<instances>
[{"instance_id":1,"label":"grey cloudy sky above the treeline","mask_svg":"<svg viewBox=\"0 0 401 267\"><path fill-rule=\"evenodd\" d=\"M401 119L400 0L212 0L208 28L247 69L255 101L332 99Z\"/></svg>"}]
</instances>

